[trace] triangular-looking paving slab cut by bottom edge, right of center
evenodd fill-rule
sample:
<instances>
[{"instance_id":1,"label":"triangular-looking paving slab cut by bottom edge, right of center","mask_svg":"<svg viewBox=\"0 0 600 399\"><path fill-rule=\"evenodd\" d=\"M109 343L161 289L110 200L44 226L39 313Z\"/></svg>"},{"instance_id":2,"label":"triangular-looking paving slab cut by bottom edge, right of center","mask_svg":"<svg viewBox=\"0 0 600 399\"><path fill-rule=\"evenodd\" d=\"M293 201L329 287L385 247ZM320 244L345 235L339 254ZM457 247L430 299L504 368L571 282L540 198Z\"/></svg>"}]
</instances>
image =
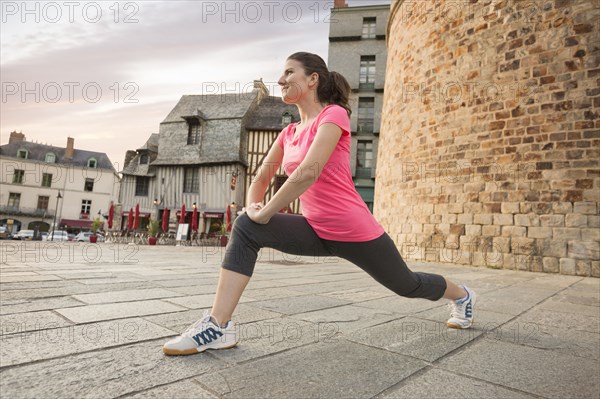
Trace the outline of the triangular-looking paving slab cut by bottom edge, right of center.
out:
<instances>
[{"instance_id":1,"label":"triangular-looking paving slab cut by bottom edge, right of center","mask_svg":"<svg viewBox=\"0 0 600 399\"><path fill-rule=\"evenodd\" d=\"M427 368L415 373L398 386L379 396L380 399L415 398L533 399L536 395L512 390L487 381L465 377L446 370Z\"/></svg>"}]
</instances>

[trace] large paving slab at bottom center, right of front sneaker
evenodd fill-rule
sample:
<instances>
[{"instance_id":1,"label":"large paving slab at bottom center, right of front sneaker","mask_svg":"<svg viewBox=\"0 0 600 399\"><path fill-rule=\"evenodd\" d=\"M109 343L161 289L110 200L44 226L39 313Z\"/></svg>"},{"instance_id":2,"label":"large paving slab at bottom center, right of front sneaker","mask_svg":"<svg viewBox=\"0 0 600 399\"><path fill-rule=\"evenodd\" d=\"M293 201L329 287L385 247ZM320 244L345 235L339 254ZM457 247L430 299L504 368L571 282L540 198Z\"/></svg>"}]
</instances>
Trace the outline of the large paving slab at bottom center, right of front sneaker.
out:
<instances>
[{"instance_id":1,"label":"large paving slab at bottom center, right of front sneaker","mask_svg":"<svg viewBox=\"0 0 600 399\"><path fill-rule=\"evenodd\" d=\"M358 399L371 398L425 366L342 341L303 346L195 379L223 398Z\"/></svg>"}]
</instances>

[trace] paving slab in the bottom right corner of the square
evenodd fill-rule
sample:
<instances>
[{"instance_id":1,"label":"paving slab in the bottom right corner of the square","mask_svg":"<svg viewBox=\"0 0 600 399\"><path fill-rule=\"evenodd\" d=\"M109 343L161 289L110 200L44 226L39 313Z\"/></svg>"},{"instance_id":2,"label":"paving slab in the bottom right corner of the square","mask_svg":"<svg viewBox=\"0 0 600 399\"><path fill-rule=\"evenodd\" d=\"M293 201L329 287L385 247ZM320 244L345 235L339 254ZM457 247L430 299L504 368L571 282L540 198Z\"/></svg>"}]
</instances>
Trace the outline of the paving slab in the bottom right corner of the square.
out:
<instances>
[{"instance_id":1,"label":"paving slab in the bottom right corner of the square","mask_svg":"<svg viewBox=\"0 0 600 399\"><path fill-rule=\"evenodd\" d=\"M592 398L600 392L597 361L500 341L476 342L438 366L546 398Z\"/></svg>"}]
</instances>

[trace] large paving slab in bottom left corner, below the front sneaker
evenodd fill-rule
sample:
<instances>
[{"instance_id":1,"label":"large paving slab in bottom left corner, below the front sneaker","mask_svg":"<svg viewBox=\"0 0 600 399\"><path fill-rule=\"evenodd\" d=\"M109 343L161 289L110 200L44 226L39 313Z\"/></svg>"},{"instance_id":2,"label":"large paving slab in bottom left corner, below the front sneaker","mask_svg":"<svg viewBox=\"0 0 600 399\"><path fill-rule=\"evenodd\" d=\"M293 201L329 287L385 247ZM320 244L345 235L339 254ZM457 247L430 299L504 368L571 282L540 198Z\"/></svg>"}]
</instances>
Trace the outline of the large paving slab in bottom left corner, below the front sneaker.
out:
<instances>
[{"instance_id":1,"label":"large paving slab in bottom left corner, below the front sneaker","mask_svg":"<svg viewBox=\"0 0 600 399\"><path fill-rule=\"evenodd\" d=\"M166 357L162 340L2 370L5 398L114 398L223 367L216 358Z\"/></svg>"}]
</instances>

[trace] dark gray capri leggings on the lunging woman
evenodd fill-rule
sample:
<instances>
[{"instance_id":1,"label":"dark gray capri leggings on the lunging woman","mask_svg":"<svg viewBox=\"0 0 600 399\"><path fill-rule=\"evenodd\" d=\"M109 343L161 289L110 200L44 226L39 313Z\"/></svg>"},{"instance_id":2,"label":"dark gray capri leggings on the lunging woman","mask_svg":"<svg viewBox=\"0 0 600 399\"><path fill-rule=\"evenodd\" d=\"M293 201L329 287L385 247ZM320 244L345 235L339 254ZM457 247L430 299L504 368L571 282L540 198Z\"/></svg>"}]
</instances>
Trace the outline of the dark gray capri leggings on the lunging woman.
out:
<instances>
[{"instance_id":1,"label":"dark gray capri leggings on the lunging woman","mask_svg":"<svg viewBox=\"0 0 600 399\"><path fill-rule=\"evenodd\" d=\"M263 247L300 256L338 256L404 297L436 301L446 291L442 276L412 272L386 233L365 242L324 240L301 215L278 213L267 224L255 223L245 213L240 215L233 225L222 267L250 277Z\"/></svg>"}]
</instances>

